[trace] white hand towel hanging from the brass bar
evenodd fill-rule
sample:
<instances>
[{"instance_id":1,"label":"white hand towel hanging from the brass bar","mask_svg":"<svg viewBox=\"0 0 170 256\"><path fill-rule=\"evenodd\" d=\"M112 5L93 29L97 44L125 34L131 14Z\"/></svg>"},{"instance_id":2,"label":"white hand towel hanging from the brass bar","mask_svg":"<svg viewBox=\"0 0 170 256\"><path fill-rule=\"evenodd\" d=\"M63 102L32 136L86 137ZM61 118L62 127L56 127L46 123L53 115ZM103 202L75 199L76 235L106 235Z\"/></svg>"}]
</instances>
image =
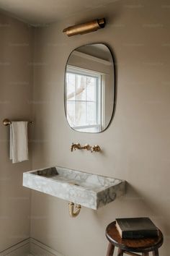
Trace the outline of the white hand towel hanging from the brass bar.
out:
<instances>
[{"instance_id":1,"label":"white hand towel hanging from the brass bar","mask_svg":"<svg viewBox=\"0 0 170 256\"><path fill-rule=\"evenodd\" d=\"M12 121L10 125L10 159L12 163L28 160L27 121Z\"/></svg>"}]
</instances>

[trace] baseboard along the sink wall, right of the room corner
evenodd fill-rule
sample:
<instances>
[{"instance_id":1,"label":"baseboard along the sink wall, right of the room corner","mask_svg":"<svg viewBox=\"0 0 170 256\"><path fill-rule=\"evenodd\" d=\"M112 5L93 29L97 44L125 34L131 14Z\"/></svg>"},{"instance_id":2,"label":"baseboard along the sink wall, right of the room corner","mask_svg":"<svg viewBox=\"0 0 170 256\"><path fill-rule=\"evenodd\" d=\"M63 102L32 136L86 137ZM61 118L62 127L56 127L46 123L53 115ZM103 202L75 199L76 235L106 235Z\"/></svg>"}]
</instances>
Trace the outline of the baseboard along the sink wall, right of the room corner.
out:
<instances>
[{"instance_id":1,"label":"baseboard along the sink wall, right of the room corner","mask_svg":"<svg viewBox=\"0 0 170 256\"><path fill-rule=\"evenodd\" d=\"M63 256L60 252L51 249L33 238L30 238L30 253L35 256Z\"/></svg>"}]
</instances>

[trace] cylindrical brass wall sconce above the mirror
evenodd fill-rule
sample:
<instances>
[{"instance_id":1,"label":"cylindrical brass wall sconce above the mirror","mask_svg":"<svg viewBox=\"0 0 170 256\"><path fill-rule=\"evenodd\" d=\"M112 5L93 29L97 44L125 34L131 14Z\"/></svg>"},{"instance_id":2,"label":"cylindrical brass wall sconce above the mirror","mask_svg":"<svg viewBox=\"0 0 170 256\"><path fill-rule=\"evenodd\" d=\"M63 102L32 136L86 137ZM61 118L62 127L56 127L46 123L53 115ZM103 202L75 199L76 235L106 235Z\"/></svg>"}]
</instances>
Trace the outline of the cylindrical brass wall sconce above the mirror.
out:
<instances>
[{"instance_id":1,"label":"cylindrical brass wall sconce above the mirror","mask_svg":"<svg viewBox=\"0 0 170 256\"><path fill-rule=\"evenodd\" d=\"M83 35L86 33L97 31L100 28L103 28L105 26L105 24L106 24L106 21L104 18L92 20L90 22L86 22L83 24L66 27L63 30L63 33L66 33L66 35L68 35L68 36L79 35L79 34Z\"/></svg>"}]
</instances>

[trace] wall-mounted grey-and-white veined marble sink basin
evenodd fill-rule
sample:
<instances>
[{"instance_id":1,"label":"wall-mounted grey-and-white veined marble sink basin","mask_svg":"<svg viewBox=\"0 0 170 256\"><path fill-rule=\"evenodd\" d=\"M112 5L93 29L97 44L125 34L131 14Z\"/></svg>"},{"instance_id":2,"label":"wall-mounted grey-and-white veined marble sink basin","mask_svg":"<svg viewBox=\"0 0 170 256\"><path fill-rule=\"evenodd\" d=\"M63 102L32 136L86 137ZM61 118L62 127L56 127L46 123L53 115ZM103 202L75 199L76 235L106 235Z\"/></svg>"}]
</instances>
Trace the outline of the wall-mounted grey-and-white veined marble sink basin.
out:
<instances>
[{"instance_id":1,"label":"wall-mounted grey-and-white veined marble sink basin","mask_svg":"<svg viewBox=\"0 0 170 256\"><path fill-rule=\"evenodd\" d=\"M123 180L58 166L24 172L23 186L94 210L125 194Z\"/></svg>"}]
</instances>

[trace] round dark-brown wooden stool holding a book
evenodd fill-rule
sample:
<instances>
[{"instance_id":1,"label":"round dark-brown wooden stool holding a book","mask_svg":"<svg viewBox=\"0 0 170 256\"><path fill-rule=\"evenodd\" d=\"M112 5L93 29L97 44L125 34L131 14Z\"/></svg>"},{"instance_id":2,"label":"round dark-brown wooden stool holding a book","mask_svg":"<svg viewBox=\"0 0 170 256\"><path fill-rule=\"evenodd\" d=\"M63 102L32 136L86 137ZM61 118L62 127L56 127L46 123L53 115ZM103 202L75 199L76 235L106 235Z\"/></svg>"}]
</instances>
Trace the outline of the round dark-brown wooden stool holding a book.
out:
<instances>
[{"instance_id":1,"label":"round dark-brown wooden stool holding a book","mask_svg":"<svg viewBox=\"0 0 170 256\"><path fill-rule=\"evenodd\" d=\"M140 256L136 252L141 252L143 256L148 256L149 252L153 256L158 256L158 248L164 242L164 237L159 230L159 236L156 238L145 239L122 239L115 226L116 221L110 223L106 229L106 236L109 240L107 256L112 256L115 247L118 247L117 256L123 256L124 253L132 256Z\"/></svg>"}]
</instances>

